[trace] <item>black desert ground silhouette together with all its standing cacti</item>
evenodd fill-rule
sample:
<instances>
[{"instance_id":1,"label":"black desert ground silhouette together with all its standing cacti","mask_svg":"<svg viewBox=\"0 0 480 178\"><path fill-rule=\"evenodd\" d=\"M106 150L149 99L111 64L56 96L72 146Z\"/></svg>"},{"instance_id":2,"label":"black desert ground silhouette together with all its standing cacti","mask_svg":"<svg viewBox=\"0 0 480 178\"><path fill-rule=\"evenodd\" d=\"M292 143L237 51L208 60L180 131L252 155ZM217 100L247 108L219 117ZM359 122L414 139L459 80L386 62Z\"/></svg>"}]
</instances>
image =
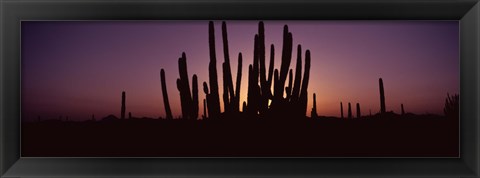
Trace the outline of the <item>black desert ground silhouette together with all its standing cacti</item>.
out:
<instances>
[{"instance_id":1,"label":"black desert ground silhouette together with all its standing cacti","mask_svg":"<svg viewBox=\"0 0 480 178\"><path fill-rule=\"evenodd\" d=\"M237 73L232 74L226 23L222 23L221 73L216 68L213 22L209 23L208 32L209 80L201 83L203 93L199 93L197 75L188 74L188 55L182 53L178 76L166 76L159 67L162 88L159 92L163 96L165 117L137 117L131 112L127 117L128 91L119 90L120 117L92 115L85 121L72 121L68 117L39 116L36 121L22 122L22 156L457 157L459 154L458 94L447 94L445 115L409 113L408 103L404 103L407 110L404 104L398 106L401 113L397 114L386 108L388 91L379 76L372 80L378 80L380 111L361 113L362 103L344 101L340 102L340 118L322 116L317 113L319 95L308 90L310 70L314 67L310 51L303 53L298 45L295 71L290 67L294 46L287 25L283 30L280 68L275 69L275 47L270 45L267 65L264 24L259 23L253 61L246 76L242 76L241 53L237 58ZM177 77L180 118L172 115L168 92L173 91L167 91L167 77ZM248 86L248 92L247 101L240 103L242 77L248 78L248 83L243 84ZM219 78L223 79L221 95ZM199 94L205 94L206 99L199 101ZM312 108L307 108L309 98L313 100ZM203 111L199 107L202 103ZM344 103L348 104L346 116Z\"/></svg>"}]
</instances>

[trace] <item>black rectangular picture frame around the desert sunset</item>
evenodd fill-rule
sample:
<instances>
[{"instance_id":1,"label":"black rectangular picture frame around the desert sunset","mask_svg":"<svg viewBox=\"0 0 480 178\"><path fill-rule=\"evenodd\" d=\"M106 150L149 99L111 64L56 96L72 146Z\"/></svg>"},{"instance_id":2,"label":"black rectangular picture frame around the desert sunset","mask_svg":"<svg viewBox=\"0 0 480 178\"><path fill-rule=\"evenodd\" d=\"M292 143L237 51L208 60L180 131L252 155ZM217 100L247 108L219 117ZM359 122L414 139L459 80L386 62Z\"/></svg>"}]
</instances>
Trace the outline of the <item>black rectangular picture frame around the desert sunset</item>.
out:
<instances>
[{"instance_id":1,"label":"black rectangular picture frame around the desert sunset","mask_svg":"<svg viewBox=\"0 0 480 178\"><path fill-rule=\"evenodd\" d=\"M0 177L478 177L478 0L1 0ZM459 20L460 158L22 158L22 20Z\"/></svg>"}]
</instances>

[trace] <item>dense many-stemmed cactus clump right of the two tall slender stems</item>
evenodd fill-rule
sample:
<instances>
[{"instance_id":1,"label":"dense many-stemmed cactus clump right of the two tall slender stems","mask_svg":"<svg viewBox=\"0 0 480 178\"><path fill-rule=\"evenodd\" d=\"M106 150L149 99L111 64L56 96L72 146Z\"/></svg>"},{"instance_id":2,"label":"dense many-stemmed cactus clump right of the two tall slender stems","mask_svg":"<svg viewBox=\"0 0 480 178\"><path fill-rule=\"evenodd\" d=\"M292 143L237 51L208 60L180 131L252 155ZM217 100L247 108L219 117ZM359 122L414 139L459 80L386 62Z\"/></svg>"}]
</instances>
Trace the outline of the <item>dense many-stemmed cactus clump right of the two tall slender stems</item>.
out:
<instances>
[{"instance_id":1,"label":"dense many-stemmed cactus clump right of the two tall slender stems","mask_svg":"<svg viewBox=\"0 0 480 178\"><path fill-rule=\"evenodd\" d=\"M259 23L258 34L256 34L254 38L253 64L249 65L248 74L249 80L246 112L249 113L249 115L256 115L258 113L260 116L266 117L305 117L308 101L307 88L310 75L310 51L307 50L305 54L305 71L302 78L302 50L301 46L298 45L297 65L295 69L295 77L293 77L293 71L290 69L292 43L292 33L288 31L288 26L285 25L283 30L283 48L280 70L273 69L274 46L272 44L267 76L265 68L264 24L263 22ZM287 75L288 85L285 87ZM271 92L272 84L273 94ZM271 100L270 107L269 100Z\"/></svg>"}]
</instances>

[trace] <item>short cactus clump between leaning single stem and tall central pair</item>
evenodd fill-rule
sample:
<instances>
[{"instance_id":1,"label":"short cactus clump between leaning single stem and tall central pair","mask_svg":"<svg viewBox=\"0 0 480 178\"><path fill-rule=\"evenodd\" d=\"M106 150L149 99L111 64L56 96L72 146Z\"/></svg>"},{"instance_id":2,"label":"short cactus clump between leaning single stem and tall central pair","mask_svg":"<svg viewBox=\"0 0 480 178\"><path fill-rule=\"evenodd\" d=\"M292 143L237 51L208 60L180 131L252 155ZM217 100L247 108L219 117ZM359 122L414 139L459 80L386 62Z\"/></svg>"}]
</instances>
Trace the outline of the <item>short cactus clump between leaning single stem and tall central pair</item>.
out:
<instances>
[{"instance_id":1,"label":"short cactus clump between leaning single stem and tall central pair","mask_svg":"<svg viewBox=\"0 0 480 178\"><path fill-rule=\"evenodd\" d=\"M198 118L198 81L197 75L194 74L192 77L192 91L190 93L185 53L182 53L182 57L178 59L178 69L180 78L177 79L177 89L180 92L182 118L196 120Z\"/></svg>"}]
</instances>

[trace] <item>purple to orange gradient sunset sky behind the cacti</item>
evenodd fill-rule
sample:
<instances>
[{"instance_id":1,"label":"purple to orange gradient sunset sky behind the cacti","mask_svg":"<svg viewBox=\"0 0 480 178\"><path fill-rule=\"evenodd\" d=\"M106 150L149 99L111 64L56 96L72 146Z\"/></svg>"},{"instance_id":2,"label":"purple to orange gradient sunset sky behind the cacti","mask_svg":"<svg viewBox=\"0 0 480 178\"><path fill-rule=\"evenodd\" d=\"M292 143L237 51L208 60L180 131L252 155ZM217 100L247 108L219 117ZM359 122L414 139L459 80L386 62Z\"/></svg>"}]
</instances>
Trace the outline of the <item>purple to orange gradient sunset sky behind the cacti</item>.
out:
<instances>
[{"instance_id":1,"label":"purple to orange gradient sunset sky behind the cacti","mask_svg":"<svg viewBox=\"0 0 480 178\"><path fill-rule=\"evenodd\" d=\"M380 110L383 78L387 111L441 114L447 93L459 93L458 21L264 21L266 63L275 45L281 63L282 31L311 52L309 100L317 112L340 116L340 102L360 103L362 114ZM22 119L97 119L120 116L121 93L134 117L165 117L160 69L165 69L174 117L181 115L176 88L178 58L187 56L188 75L197 74L200 114L208 82L208 21L23 21ZM243 55L241 102L247 98L248 65L258 21L227 21L233 79ZM217 72L222 94L221 21L215 21ZM304 61L303 61L304 63ZM303 67L302 67L303 68ZM235 84L235 83L234 83ZM221 98L221 97L220 97ZM223 111L223 104L221 106ZM354 110L354 109L353 109ZM354 110L355 111L355 110ZM200 116L199 116L200 117Z\"/></svg>"}]
</instances>

